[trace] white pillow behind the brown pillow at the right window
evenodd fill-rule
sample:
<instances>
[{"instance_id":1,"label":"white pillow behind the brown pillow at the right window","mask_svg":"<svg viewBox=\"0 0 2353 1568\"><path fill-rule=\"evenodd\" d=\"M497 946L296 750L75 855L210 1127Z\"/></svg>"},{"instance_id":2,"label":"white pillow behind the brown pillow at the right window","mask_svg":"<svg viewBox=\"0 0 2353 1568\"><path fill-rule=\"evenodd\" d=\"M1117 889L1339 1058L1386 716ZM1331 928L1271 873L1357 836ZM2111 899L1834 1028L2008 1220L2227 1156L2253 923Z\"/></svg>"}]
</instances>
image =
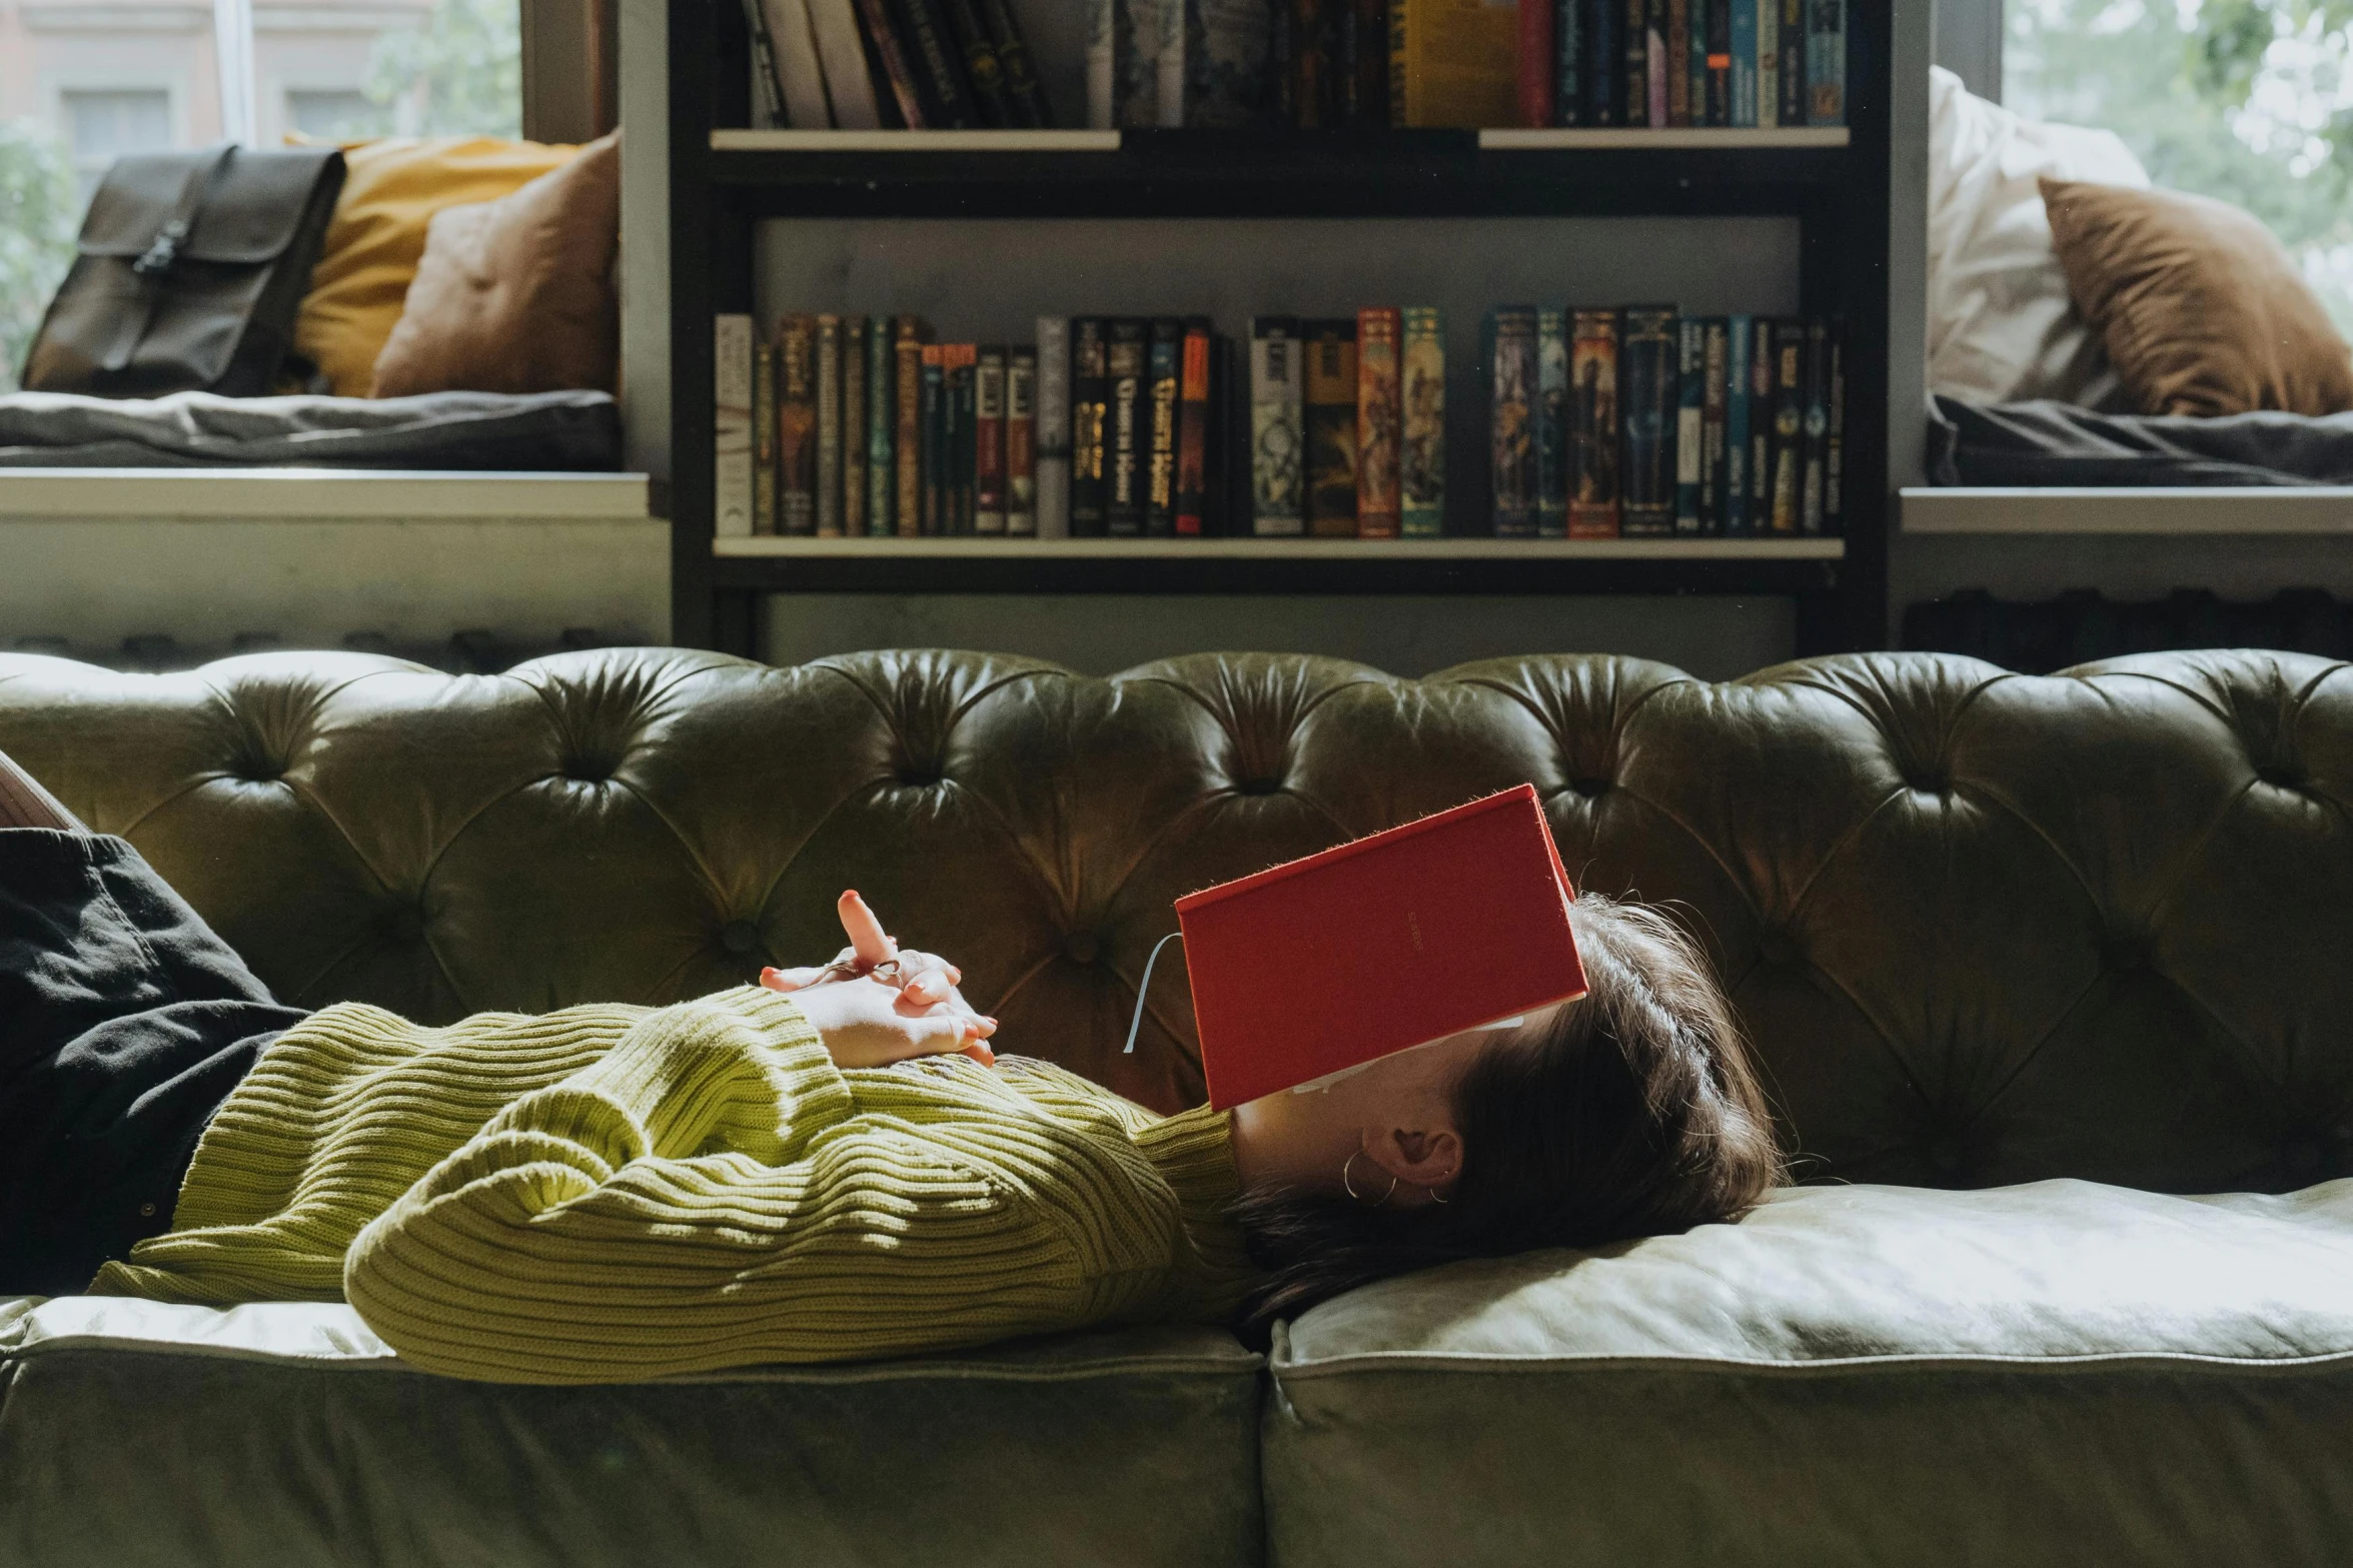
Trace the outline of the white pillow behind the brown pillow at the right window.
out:
<instances>
[{"instance_id":1,"label":"white pillow behind the brown pillow at the right window","mask_svg":"<svg viewBox=\"0 0 2353 1568\"><path fill-rule=\"evenodd\" d=\"M2129 47L2118 40L2118 47ZM2113 132L2021 120L1929 68L1927 386L1969 402L2120 397L2052 252L2035 176L2148 188Z\"/></svg>"}]
</instances>

